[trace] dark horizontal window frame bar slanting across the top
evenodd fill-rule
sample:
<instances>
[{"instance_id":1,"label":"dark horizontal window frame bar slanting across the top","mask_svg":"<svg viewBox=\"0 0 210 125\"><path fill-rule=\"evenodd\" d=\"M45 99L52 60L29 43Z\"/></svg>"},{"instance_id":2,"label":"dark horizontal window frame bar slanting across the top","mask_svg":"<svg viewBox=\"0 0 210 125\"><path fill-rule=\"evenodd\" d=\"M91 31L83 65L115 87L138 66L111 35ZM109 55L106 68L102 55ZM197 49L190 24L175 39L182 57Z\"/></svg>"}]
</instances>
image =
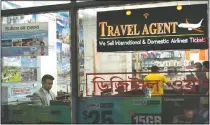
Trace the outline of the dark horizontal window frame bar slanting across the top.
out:
<instances>
[{"instance_id":1,"label":"dark horizontal window frame bar slanting across the top","mask_svg":"<svg viewBox=\"0 0 210 125\"><path fill-rule=\"evenodd\" d=\"M93 7L103 7L103 6L120 6L126 4L148 4L148 3L159 3L159 2L168 2L168 1L87 1L87 2L71 2L67 4L57 4L57 5L46 5L46 6L36 6L36 7L27 7L27 8L17 8L17 9L8 9L1 10L1 17L8 16L18 16L18 15L29 15L29 14L39 14L39 13L49 13L56 11L69 11L70 8L74 7L75 9L85 9Z\"/></svg>"}]
</instances>

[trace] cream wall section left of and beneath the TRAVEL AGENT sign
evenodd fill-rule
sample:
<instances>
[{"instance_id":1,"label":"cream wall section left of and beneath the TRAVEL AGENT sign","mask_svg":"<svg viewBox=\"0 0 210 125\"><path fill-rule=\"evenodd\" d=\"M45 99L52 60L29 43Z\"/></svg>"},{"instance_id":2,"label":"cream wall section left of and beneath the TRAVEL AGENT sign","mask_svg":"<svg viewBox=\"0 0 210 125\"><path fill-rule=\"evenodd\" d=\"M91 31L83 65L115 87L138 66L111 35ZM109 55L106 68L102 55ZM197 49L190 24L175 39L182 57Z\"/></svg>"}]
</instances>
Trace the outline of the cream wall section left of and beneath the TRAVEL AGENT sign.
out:
<instances>
[{"instance_id":1,"label":"cream wall section left of and beneath the TRAVEL AGENT sign","mask_svg":"<svg viewBox=\"0 0 210 125\"><path fill-rule=\"evenodd\" d=\"M86 73L110 73L110 72L132 72L131 53L98 53L96 50L96 17L83 18L84 44L85 44L85 74ZM128 75L118 75L128 78ZM88 94L93 91L94 75L88 76ZM110 76L105 75L103 78ZM86 94L86 91L85 93ZM96 92L96 94L99 94Z\"/></svg>"}]
</instances>

